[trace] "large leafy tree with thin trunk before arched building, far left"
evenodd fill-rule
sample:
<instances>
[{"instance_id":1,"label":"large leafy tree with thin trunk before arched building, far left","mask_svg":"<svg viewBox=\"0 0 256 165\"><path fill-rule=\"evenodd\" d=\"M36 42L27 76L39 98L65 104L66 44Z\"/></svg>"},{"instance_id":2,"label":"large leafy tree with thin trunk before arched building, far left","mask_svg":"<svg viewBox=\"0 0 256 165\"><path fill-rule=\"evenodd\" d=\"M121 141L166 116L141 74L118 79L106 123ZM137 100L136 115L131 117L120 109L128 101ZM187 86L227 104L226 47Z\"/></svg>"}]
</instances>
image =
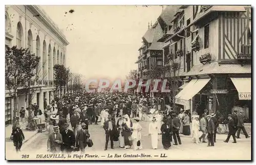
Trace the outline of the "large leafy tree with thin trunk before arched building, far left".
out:
<instances>
[{"instance_id":1,"label":"large leafy tree with thin trunk before arched building, far left","mask_svg":"<svg viewBox=\"0 0 256 165\"><path fill-rule=\"evenodd\" d=\"M7 47L5 58L5 82L10 96L14 99L13 122L17 112L18 88L28 90L28 80L34 76L33 70L38 66L40 58L29 49ZM31 101L30 101L31 102Z\"/></svg>"}]
</instances>

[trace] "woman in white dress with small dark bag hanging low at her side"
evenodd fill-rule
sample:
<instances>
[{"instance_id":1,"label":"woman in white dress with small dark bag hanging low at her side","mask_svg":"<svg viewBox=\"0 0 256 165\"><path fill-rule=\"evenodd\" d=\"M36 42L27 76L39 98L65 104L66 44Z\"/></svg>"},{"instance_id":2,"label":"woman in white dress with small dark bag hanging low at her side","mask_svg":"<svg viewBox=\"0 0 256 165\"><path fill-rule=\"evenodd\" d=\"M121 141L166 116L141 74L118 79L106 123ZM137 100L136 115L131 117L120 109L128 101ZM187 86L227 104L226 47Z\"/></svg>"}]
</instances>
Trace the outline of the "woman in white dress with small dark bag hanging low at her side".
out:
<instances>
[{"instance_id":1,"label":"woman in white dress with small dark bag hanging low at her side","mask_svg":"<svg viewBox=\"0 0 256 165\"><path fill-rule=\"evenodd\" d=\"M132 133L132 140L133 140L133 149L135 150L141 150L142 149L142 144L141 144L141 130L142 127L139 124L140 119L138 117L134 118L134 123L131 129L133 129ZM140 141L140 145L138 146L138 141Z\"/></svg>"}]
</instances>

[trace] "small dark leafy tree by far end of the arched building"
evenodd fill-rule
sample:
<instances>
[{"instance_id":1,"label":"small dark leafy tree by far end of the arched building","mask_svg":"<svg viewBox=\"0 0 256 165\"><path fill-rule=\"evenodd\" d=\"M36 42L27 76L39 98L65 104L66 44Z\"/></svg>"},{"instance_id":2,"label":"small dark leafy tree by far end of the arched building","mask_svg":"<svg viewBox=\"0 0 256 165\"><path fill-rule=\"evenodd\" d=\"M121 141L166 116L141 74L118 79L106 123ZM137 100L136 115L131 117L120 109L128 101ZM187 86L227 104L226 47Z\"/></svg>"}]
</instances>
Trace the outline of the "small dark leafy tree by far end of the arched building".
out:
<instances>
[{"instance_id":1,"label":"small dark leafy tree by far end of the arched building","mask_svg":"<svg viewBox=\"0 0 256 165\"><path fill-rule=\"evenodd\" d=\"M61 98L61 91L62 89L68 85L68 79L69 79L69 72L70 70L67 69L64 65L56 64L53 67L54 70L54 84L56 87L55 92L60 90L60 98ZM56 93L54 94L56 96Z\"/></svg>"}]
</instances>

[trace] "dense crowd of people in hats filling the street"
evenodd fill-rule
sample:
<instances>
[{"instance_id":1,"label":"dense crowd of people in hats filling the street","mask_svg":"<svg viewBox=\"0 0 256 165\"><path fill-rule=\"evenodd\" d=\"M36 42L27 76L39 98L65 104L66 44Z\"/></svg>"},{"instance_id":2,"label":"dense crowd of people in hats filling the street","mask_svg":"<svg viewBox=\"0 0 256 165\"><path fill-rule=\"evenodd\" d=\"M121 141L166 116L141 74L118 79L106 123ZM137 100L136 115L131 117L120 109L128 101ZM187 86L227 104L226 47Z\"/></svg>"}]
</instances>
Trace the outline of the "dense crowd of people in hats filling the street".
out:
<instances>
[{"instance_id":1,"label":"dense crowd of people in hats filling the street","mask_svg":"<svg viewBox=\"0 0 256 165\"><path fill-rule=\"evenodd\" d=\"M61 98L56 97L50 105L44 103L44 117L49 123L48 128L48 151L52 153L72 151L85 152L87 146L92 146L90 140L89 126L91 124L102 127L105 131L105 147L114 149L114 142L119 143L120 148L142 149L142 136L151 137L152 149L158 148L160 137L163 148L168 150L171 142L174 145L181 145L180 134L191 135L192 141L199 144L207 143L207 146L214 146L216 143L216 132L218 122L216 114L204 112L199 116L196 111L190 114L182 108L177 113L172 107L164 104L163 98L150 98L148 95L131 95L125 93L83 93L68 94ZM18 122L27 123L24 120L27 109L20 110L20 120L16 117L16 124L13 125L13 142L16 151L20 151L22 141L25 139ZM31 112L40 111L36 104ZM37 113L30 113L36 116ZM39 112L42 114L41 112ZM236 113L235 113L236 114ZM234 134L237 129L244 130L243 123L236 115L229 115L229 134L227 140L232 135L236 143ZM240 118L239 118L240 119ZM141 122L150 121L148 134L141 134L143 129ZM191 126L190 126L191 125ZM238 126L238 127L237 127ZM70 129L71 128L71 129ZM190 130L191 128L191 130ZM200 131L202 135L200 135ZM246 132L246 131L245 131ZM240 131L238 132L239 136ZM249 137L245 133L246 137Z\"/></svg>"}]
</instances>

